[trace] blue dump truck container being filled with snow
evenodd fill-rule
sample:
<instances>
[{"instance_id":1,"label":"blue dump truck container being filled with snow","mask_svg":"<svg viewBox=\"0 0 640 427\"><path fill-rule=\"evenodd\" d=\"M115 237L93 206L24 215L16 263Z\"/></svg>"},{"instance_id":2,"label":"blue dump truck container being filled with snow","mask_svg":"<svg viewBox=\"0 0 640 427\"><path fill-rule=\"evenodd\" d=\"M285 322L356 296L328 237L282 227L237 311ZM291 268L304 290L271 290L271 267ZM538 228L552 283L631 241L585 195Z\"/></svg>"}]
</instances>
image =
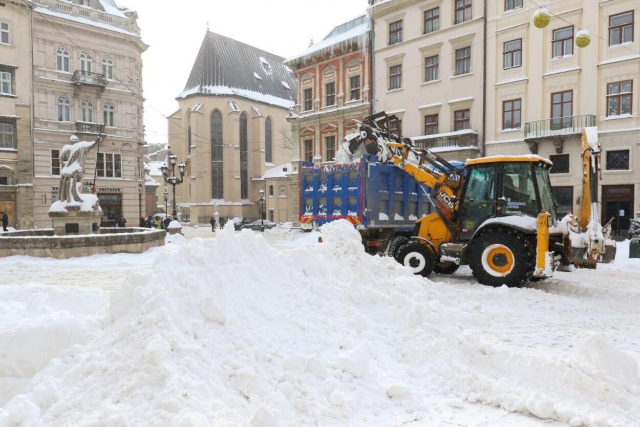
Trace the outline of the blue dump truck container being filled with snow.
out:
<instances>
[{"instance_id":1,"label":"blue dump truck container being filled with snow","mask_svg":"<svg viewBox=\"0 0 640 427\"><path fill-rule=\"evenodd\" d=\"M401 168L365 154L348 165L300 165L300 225L312 229L345 219L369 252L382 252L394 236L411 236L415 222L431 213L431 189Z\"/></svg>"}]
</instances>

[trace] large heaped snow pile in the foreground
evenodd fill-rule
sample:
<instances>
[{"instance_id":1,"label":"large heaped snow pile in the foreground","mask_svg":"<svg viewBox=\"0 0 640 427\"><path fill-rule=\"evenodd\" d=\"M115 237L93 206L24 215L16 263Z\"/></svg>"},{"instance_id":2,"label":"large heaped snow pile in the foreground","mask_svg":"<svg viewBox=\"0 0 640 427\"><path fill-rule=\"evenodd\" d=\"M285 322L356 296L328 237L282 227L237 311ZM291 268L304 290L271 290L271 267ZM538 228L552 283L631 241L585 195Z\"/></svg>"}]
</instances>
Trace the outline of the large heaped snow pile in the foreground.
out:
<instances>
[{"instance_id":1,"label":"large heaped snow pile in the foreground","mask_svg":"<svg viewBox=\"0 0 640 427\"><path fill-rule=\"evenodd\" d=\"M442 408L471 403L639 424L640 388L620 379L632 359L595 332L562 357L476 334L490 307L468 293L365 254L344 220L322 238L278 250L229 222L163 248L114 294L111 324L52 360L0 426L444 425Z\"/></svg>"}]
</instances>

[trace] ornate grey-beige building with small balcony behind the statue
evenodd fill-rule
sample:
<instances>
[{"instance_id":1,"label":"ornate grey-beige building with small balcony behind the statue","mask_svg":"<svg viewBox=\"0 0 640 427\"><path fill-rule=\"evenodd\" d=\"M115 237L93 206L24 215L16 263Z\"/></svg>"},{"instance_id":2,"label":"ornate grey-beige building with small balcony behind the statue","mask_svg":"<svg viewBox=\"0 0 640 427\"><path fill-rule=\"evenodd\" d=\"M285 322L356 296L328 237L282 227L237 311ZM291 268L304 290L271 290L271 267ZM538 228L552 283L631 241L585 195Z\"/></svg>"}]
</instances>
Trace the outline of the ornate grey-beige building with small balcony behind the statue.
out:
<instances>
[{"instance_id":1,"label":"ornate grey-beige building with small balcony behind the statue","mask_svg":"<svg viewBox=\"0 0 640 427\"><path fill-rule=\"evenodd\" d=\"M95 140L83 191L95 188L102 225L145 214L141 54L138 15L113 0L36 0L33 4L33 210L50 227L57 197L58 154L70 136ZM96 181L93 181L94 175Z\"/></svg>"}]
</instances>

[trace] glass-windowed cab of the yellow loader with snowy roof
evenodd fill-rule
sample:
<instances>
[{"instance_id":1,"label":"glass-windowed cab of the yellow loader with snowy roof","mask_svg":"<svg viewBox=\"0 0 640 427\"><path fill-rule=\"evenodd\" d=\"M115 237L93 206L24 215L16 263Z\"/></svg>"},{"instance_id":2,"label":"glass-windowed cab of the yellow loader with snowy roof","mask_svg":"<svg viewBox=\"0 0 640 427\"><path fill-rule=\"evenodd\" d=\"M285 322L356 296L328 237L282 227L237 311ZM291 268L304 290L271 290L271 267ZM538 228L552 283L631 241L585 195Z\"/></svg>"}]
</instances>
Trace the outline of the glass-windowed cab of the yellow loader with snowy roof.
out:
<instances>
[{"instance_id":1,"label":"glass-windowed cab of the yellow loader with snowy roof","mask_svg":"<svg viewBox=\"0 0 640 427\"><path fill-rule=\"evenodd\" d=\"M460 239L468 240L495 216L555 213L550 161L532 156L481 157L468 161L460 197ZM531 230L533 233L535 229Z\"/></svg>"}]
</instances>

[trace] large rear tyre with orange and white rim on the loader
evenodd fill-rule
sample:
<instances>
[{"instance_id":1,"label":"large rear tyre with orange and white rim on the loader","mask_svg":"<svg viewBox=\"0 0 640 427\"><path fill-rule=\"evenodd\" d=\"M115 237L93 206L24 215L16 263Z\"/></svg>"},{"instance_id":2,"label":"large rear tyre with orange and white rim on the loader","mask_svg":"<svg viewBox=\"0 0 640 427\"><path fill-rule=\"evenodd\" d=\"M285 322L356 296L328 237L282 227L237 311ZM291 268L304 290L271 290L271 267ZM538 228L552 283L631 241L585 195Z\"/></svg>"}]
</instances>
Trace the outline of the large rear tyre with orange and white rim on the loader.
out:
<instances>
[{"instance_id":1,"label":"large rear tyre with orange and white rim on the loader","mask_svg":"<svg viewBox=\"0 0 640 427\"><path fill-rule=\"evenodd\" d=\"M469 266L483 285L524 286L533 275L536 251L522 234L512 230L493 230L471 243Z\"/></svg>"}]
</instances>

